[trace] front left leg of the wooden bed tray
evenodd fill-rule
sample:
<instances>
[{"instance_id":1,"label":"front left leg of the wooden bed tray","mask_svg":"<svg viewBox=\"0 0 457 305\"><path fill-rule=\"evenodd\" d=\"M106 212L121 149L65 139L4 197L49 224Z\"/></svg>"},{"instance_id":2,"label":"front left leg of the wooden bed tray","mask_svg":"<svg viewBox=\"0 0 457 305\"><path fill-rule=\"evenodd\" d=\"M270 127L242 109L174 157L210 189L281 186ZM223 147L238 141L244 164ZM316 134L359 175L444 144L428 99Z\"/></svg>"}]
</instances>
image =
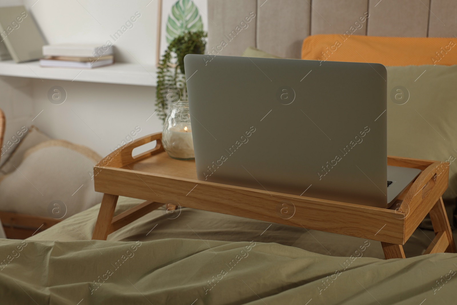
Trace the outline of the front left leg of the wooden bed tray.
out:
<instances>
[{"instance_id":1,"label":"front left leg of the wooden bed tray","mask_svg":"<svg viewBox=\"0 0 457 305\"><path fill-rule=\"evenodd\" d=\"M92 239L106 241L106 237L108 237L111 229L111 222L114 210L116 209L117 198L119 198L119 196L111 194L103 195Z\"/></svg>"}]
</instances>

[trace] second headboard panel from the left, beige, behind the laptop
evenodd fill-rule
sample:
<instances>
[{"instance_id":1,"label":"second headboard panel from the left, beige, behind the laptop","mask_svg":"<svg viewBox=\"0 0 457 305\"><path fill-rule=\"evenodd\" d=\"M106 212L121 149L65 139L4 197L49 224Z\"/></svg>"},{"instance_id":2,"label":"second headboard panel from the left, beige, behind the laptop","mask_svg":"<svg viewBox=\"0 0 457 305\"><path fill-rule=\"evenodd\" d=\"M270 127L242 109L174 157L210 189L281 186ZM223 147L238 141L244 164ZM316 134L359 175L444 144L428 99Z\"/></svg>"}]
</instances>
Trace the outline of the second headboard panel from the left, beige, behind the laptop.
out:
<instances>
[{"instance_id":1,"label":"second headboard panel from the left, beige, behind the laptop","mask_svg":"<svg viewBox=\"0 0 457 305\"><path fill-rule=\"evenodd\" d=\"M300 58L303 39L309 35L309 1L258 0L257 48L285 58Z\"/></svg>"}]
</instances>

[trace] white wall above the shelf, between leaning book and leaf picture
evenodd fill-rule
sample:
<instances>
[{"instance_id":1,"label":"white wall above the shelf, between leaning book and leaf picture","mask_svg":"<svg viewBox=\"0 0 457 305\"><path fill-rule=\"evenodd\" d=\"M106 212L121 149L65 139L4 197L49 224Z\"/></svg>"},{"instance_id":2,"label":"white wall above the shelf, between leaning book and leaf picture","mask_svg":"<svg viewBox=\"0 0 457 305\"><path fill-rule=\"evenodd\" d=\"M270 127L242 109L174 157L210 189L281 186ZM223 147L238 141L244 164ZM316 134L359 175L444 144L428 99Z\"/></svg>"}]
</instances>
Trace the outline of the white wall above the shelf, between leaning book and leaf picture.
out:
<instances>
[{"instance_id":1,"label":"white wall above the shelf, between leaning book and leaf picture","mask_svg":"<svg viewBox=\"0 0 457 305\"><path fill-rule=\"evenodd\" d=\"M2 0L3 1L3 0ZM11 1L11 0L10 0ZM155 64L158 0L24 0L48 43L106 43L116 48L116 60ZM135 12L141 16L114 41ZM130 55L130 54L131 55Z\"/></svg>"}]
</instances>

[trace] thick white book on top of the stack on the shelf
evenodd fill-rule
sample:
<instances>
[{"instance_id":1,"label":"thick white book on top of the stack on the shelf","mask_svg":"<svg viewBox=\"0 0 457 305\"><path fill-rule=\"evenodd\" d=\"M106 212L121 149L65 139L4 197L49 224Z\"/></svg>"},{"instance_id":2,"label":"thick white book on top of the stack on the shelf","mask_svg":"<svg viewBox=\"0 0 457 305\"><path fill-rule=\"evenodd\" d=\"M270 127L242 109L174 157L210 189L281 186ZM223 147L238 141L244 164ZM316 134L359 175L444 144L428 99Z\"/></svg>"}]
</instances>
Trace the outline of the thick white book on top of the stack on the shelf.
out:
<instances>
[{"instance_id":1,"label":"thick white book on top of the stack on the shelf","mask_svg":"<svg viewBox=\"0 0 457 305\"><path fill-rule=\"evenodd\" d=\"M43 56L100 57L112 54L112 46L100 44L64 43L43 46Z\"/></svg>"}]
</instances>

